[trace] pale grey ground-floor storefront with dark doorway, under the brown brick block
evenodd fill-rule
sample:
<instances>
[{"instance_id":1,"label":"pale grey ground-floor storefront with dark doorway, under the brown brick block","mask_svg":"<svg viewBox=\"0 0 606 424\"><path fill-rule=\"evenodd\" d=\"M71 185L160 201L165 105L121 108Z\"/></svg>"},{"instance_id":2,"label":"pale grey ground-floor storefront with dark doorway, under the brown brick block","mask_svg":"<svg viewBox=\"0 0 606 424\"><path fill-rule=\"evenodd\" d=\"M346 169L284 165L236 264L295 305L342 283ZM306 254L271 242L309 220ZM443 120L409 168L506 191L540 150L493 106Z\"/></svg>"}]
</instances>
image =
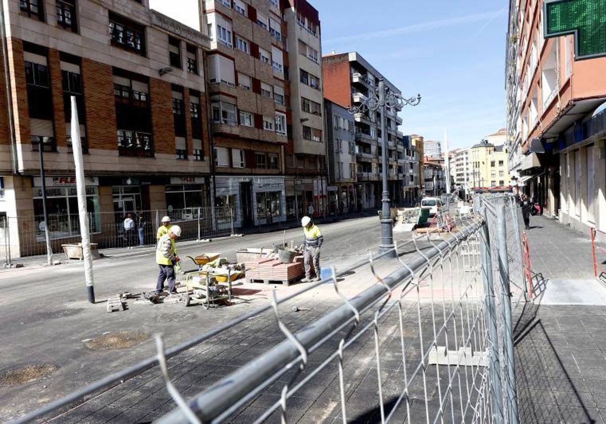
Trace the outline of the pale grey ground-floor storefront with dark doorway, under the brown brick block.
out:
<instances>
[{"instance_id":1,"label":"pale grey ground-floor storefront with dark doorway, under the brown brick block","mask_svg":"<svg viewBox=\"0 0 606 424\"><path fill-rule=\"evenodd\" d=\"M235 227L286 220L284 177L216 177L215 207L233 210ZM224 213L229 217L228 212ZM221 220L218 219L220 222Z\"/></svg>"}]
</instances>

